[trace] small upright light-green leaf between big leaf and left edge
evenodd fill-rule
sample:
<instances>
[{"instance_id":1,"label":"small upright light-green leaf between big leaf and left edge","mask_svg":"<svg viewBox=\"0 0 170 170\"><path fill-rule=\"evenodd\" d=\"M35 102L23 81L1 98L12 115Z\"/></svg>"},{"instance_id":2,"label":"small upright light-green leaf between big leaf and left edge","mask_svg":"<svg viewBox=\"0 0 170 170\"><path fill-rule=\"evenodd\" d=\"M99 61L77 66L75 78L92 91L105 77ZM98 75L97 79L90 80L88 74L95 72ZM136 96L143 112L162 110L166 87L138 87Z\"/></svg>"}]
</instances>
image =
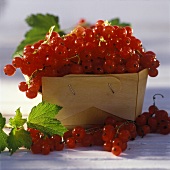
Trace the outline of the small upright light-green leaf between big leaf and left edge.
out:
<instances>
[{"instance_id":1,"label":"small upright light-green leaf between big leaf and left edge","mask_svg":"<svg viewBox=\"0 0 170 170\"><path fill-rule=\"evenodd\" d=\"M13 128L20 128L26 123L27 119L22 119L22 113L20 112L20 108L16 110L16 114L14 118L9 119L9 124Z\"/></svg>"}]
</instances>

